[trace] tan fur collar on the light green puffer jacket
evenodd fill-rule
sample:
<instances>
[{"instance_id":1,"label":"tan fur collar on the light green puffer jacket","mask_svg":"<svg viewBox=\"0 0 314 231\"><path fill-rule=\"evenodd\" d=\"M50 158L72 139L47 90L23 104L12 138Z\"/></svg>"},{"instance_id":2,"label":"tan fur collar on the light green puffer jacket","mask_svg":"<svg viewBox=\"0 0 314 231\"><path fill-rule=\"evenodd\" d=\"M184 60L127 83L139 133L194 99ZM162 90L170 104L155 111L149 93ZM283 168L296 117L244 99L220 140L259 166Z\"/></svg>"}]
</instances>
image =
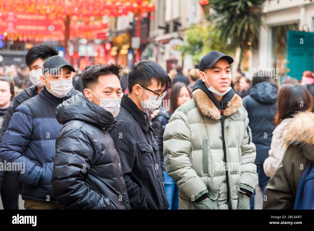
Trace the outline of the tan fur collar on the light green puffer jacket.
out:
<instances>
[{"instance_id":1,"label":"tan fur collar on the light green puffer jacket","mask_svg":"<svg viewBox=\"0 0 314 231\"><path fill-rule=\"evenodd\" d=\"M212 119L220 119L218 108L214 105L213 101L208 98L204 91L201 89L194 90L193 99L203 115L206 115ZM234 94L230 100L230 103L226 104L224 115L233 115L236 113L239 107L242 107L242 99L237 94Z\"/></svg>"}]
</instances>

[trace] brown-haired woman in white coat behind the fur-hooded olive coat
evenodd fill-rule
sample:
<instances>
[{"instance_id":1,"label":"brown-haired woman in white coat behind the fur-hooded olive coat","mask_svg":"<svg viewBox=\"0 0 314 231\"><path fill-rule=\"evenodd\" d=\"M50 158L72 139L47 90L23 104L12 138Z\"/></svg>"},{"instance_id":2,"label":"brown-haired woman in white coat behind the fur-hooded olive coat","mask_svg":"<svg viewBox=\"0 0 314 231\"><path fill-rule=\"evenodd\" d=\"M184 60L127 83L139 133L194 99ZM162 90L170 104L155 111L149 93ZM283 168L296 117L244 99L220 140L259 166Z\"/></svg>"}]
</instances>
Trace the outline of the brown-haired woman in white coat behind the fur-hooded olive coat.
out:
<instances>
[{"instance_id":1,"label":"brown-haired woman in white coat behind the fur-hooded olive coat","mask_svg":"<svg viewBox=\"0 0 314 231\"><path fill-rule=\"evenodd\" d=\"M278 106L275 116L273 137L268 151L269 157L263 164L264 172L268 177L272 177L285 151L282 132L286 126L293 121L293 116L301 111L310 111L313 107L313 100L306 88L300 84L284 84L278 91ZM303 102L302 104L300 102Z\"/></svg>"}]
</instances>

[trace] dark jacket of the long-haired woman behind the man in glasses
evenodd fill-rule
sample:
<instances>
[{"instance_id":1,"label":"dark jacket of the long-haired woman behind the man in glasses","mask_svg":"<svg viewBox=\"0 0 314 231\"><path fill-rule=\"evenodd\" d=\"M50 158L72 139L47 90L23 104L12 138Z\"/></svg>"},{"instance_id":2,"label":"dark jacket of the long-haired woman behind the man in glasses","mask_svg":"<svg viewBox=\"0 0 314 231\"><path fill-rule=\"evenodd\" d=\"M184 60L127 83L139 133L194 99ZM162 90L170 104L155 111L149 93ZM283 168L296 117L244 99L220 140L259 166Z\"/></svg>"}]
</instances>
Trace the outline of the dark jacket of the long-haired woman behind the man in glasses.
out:
<instances>
[{"instance_id":1,"label":"dark jacket of the long-haired woman behind the man in glasses","mask_svg":"<svg viewBox=\"0 0 314 231\"><path fill-rule=\"evenodd\" d=\"M163 145L163 139L162 139L165 132L165 125L163 124L168 124L169 119L170 119L170 114L165 108L160 109L160 112L158 113L158 115L156 115L152 119L152 128L154 129L153 135L159 147L159 150L158 150L159 165L162 170L165 170L165 162L164 162L164 154L163 154L164 145Z\"/></svg>"}]
</instances>

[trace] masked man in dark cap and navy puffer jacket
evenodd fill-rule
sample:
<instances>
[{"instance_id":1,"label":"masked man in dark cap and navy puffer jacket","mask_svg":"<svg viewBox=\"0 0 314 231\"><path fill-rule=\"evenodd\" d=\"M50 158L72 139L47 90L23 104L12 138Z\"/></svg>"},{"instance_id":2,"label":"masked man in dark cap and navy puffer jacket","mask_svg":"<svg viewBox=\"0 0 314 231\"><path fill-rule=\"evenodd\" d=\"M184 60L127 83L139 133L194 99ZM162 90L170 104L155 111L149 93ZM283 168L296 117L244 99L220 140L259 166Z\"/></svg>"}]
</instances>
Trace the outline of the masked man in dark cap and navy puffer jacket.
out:
<instances>
[{"instance_id":1,"label":"masked man in dark cap and navy puffer jacket","mask_svg":"<svg viewBox=\"0 0 314 231\"><path fill-rule=\"evenodd\" d=\"M23 183L25 209L58 209L52 195L51 173L55 157L55 140L61 129L55 115L57 106L78 94L72 86L74 68L60 56L51 56L42 67L39 95L16 108L4 134L1 159L23 163L24 172L10 171Z\"/></svg>"}]
</instances>

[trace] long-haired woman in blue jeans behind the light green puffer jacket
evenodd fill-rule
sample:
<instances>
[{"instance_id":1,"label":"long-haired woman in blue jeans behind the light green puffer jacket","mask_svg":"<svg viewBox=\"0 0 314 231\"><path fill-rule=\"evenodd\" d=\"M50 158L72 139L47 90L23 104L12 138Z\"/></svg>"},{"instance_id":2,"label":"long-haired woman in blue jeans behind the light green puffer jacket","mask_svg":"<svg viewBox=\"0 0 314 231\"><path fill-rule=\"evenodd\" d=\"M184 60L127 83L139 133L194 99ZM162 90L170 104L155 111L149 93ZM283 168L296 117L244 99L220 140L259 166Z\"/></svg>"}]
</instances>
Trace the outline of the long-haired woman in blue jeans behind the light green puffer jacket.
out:
<instances>
[{"instance_id":1,"label":"long-haired woman in blue jeans behind the light green puffer jacket","mask_svg":"<svg viewBox=\"0 0 314 231\"><path fill-rule=\"evenodd\" d=\"M178 82L171 87L170 102L165 103L165 107L160 109L160 112L152 119L152 128L154 129L153 135L155 141L159 146L159 166L162 168L165 193L169 202L169 209L179 208L179 190L173 179L169 177L165 170L165 162L163 156L163 135L165 126L168 124L169 119L174 111L185 102L191 99L191 93L184 83Z\"/></svg>"}]
</instances>

